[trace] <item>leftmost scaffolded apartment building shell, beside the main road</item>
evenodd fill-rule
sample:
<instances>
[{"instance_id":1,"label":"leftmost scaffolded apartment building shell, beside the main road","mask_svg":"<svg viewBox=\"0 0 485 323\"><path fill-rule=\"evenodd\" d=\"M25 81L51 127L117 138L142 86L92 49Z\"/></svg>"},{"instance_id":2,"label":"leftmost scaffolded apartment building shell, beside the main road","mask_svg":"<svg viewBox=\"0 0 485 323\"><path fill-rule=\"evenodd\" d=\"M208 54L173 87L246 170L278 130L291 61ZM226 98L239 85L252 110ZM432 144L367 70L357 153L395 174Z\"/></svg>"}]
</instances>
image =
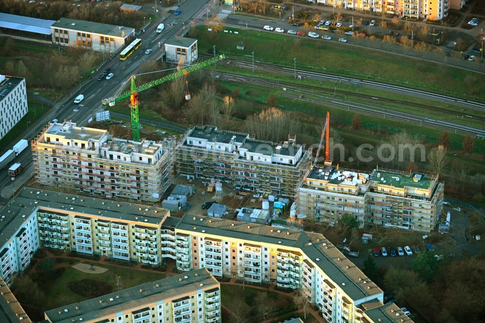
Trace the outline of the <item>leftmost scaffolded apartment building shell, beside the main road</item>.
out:
<instances>
[{"instance_id":1,"label":"leftmost scaffolded apartment building shell, beside the main road","mask_svg":"<svg viewBox=\"0 0 485 323\"><path fill-rule=\"evenodd\" d=\"M172 149L170 141L128 141L72 122L50 124L32 141L41 184L144 202L160 201L172 184Z\"/></svg>"}]
</instances>

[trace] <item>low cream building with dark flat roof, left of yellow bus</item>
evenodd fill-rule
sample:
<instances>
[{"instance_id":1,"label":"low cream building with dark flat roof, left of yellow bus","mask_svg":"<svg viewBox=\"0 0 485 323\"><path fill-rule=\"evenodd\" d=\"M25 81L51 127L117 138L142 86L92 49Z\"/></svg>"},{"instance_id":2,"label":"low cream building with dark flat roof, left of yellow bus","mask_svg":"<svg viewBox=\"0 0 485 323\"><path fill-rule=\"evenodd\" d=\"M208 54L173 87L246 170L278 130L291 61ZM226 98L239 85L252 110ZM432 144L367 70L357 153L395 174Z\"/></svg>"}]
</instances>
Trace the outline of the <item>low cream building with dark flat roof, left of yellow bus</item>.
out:
<instances>
[{"instance_id":1,"label":"low cream building with dark flat roof, left of yellow bus","mask_svg":"<svg viewBox=\"0 0 485 323\"><path fill-rule=\"evenodd\" d=\"M52 43L59 46L81 46L115 53L135 36L135 29L99 22L61 18L52 26Z\"/></svg>"}]
</instances>

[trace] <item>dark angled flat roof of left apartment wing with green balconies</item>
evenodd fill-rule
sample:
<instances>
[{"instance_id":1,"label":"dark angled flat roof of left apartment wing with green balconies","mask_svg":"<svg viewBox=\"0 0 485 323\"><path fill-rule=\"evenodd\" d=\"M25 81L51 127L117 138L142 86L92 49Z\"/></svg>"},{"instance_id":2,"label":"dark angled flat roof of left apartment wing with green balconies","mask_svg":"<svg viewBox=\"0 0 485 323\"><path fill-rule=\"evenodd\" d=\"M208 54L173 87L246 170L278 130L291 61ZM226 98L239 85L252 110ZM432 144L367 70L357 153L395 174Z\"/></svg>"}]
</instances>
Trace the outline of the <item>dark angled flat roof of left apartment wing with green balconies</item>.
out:
<instances>
[{"instance_id":1,"label":"dark angled flat roof of left apartment wing with green balconies","mask_svg":"<svg viewBox=\"0 0 485 323\"><path fill-rule=\"evenodd\" d=\"M54 212L60 214L63 211L65 213L81 213L110 218L113 221L118 219L138 222L140 225L151 224L157 226L169 212L167 209L152 206L24 187L0 210L0 233L2 234L0 245L8 241L25 219L37 208L57 209ZM22 217L23 215L25 217Z\"/></svg>"}]
</instances>

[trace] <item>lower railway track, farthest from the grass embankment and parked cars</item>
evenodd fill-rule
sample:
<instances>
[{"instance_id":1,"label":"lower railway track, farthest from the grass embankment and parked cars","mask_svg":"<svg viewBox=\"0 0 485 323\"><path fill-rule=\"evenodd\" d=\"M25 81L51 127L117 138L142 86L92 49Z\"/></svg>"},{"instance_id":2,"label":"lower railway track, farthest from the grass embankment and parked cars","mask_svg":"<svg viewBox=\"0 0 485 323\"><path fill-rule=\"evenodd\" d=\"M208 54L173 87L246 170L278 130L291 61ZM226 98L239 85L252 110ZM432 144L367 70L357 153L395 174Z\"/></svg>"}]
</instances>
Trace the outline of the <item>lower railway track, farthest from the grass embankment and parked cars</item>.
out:
<instances>
[{"instance_id":1,"label":"lower railway track, farthest from the grass embankment and parked cars","mask_svg":"<svg viewBox=\"0 0 485 323\"><path fill-rule=\"evenodd\" d=\"M286 82L265 80L262 78L256 78L256 77L251 77L251 76L232 73L232 72L222 72L222 71L214 71L214 70L207 70L207 69L203 71L206 75L210 75L211 73L216 72L218 78L224 81L240 82L240 83L270 87L275 89L286 88L287 92L283 93L284 97L303 100L307 102L314 102L318 104L324 104L324 105L328 105L328 106L332 106L332 107L336 107L336 108L344 109L348 111L355 111L359 113L377 115L387 119L400 120L400 121L448 130L448 131L457 132L457 133L470 133L475 136L485 138L484 129L460 125L449 121L442 121L442 120L429 118L429 117L425 117L425 116L421 116L413 113L400 112L400 111L396 111L388 108L374 106L367 103L360 103L352 100L345 100L341 98L335 98L332 96L315 94L314 92L308 91L307 89L301 89L301 88L290 86ZM305 88L307 88L307 85L305 85ZM296 93L296 94L292 94L290 92Z\"/></svg>"}]
</instances>

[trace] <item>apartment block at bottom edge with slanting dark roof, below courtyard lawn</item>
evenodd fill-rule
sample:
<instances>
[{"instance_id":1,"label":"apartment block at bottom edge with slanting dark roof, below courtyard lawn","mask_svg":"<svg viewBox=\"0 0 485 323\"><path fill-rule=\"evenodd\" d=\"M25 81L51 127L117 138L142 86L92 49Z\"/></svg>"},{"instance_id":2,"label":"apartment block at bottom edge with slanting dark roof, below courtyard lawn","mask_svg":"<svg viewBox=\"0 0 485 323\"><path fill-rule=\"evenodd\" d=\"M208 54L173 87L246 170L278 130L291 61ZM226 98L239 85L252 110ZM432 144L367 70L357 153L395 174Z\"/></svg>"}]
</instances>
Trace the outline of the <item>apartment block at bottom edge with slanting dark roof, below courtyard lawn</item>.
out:
<instances>
[{"instance_id":1,"label":"apartment block at bottom edge with slanting dark roof, below courtyard lawn","mask_svg":"<svg viewBox=\"0 0 485 323\"><path fill-rule=\"evenodd\" d=\"M201 268L44 315L49 323L220 323L220 284Z\"/></svg>"}]
</instances>

